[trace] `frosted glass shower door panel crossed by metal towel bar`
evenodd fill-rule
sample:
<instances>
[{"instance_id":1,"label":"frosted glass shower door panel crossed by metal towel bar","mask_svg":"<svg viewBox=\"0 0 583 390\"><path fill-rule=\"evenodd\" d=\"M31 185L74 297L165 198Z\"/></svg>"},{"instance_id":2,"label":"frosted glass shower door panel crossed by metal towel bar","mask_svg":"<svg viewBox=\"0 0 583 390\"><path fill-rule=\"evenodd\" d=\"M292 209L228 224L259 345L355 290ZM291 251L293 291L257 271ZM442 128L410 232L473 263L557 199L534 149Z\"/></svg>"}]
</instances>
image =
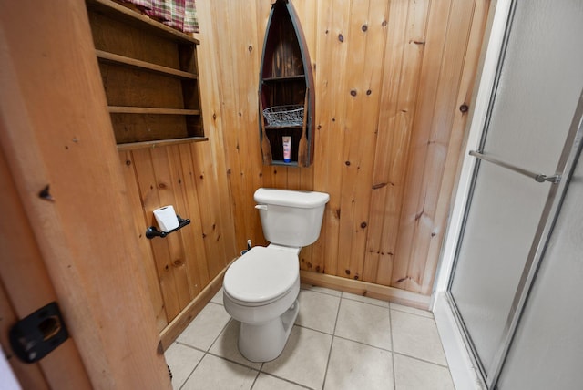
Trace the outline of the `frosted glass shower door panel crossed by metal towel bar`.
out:
<instances>
[{"instance_id":1,"label":"frosted glass shower door panel crossed by metal towel bar","mask_svg":"<svg viewBox=\"0 0 583 390\"><path fill-rule=\"evenodd\" d=\"M535 0L511 12L449 287L488 385L583 87L581 5Z\"/></svg>"}]
</instances>

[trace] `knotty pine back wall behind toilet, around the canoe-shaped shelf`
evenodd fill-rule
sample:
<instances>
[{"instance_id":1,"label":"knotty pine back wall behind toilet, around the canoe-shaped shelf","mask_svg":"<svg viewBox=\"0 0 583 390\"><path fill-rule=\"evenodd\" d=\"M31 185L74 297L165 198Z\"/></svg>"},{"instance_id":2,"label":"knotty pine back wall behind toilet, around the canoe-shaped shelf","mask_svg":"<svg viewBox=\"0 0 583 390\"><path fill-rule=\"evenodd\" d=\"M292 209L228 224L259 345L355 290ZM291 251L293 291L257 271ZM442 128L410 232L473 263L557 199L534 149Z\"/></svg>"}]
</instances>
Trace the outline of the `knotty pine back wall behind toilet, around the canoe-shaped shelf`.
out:
<instances>
[{"instance_id":1,"label":"knotty pine back wall behind toilet, around the canoe-shaped shelf","mask_svg":"<svg viewBox=\"0 0 583 390\"><path fill-rule=\"evenodd\" d=\"M429 294L465 130L458 108L472 96L490 2L292 0L316 84L308 169L261 165L256 91L270 3L197 2L238 248L265 242L256 188L322 190L331 200L303 270Z\"/></svg>"}]
</instances>

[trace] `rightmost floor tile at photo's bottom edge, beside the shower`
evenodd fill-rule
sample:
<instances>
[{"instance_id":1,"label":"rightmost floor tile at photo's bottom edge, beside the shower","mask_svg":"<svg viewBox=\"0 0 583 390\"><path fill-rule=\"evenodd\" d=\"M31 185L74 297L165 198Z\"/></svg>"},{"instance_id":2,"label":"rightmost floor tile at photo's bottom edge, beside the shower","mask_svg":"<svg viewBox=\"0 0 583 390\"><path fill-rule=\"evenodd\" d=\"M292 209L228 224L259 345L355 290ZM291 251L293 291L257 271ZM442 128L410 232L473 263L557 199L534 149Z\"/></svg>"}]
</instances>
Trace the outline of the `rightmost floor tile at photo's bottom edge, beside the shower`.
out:
<instances>
[{"instance_id":1,"label":"rightmost floor tile at photo's bottom edge, beside the shower","mask_svg":"<svg viewBox=\"0 0 583 390\"><path fill-rule=\"evenodd\" d=\"M398 390L455 390L447 368L394 354L394 382Z\"/></svg>"}]
</instances>

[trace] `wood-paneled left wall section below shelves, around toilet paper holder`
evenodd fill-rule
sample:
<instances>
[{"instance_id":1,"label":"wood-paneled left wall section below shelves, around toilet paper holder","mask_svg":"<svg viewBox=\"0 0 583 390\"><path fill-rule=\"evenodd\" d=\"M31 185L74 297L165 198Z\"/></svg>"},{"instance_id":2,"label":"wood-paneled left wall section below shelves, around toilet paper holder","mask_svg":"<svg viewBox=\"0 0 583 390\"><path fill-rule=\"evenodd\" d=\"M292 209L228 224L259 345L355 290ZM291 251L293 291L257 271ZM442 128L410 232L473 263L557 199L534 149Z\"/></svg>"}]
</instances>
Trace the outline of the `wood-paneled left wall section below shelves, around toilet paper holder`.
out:
<instances>
[{"instance_id":1,"label":"wood-paneled left wall section below shelves, around toilet paper holder","mask_svg":"<svg viewBox=\"0 0 583 390\"><path fill-rule=\"evenodd\" d=\"M159 331L235 256L229 190L208 142L119 153ZM152 213L172 204L190 224L147 240Z\"/></svg>"}]
</instances>

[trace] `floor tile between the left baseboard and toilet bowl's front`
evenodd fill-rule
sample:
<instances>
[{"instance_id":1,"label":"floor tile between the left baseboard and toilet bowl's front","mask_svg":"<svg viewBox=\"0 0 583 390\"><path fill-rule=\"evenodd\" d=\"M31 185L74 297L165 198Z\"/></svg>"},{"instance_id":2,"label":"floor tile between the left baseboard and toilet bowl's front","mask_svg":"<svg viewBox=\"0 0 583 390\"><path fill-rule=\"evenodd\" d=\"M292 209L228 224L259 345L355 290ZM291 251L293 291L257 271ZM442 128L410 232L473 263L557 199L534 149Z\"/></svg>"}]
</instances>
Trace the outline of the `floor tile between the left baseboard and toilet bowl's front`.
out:
<instances>
[{"instance_id":1,"label":"floor tile between the left baseboard and toilet bowl's front","mask_svg":"<svg viewBox=\"0 0 583 390\"><path fill-rule=\"evenodd\" d=\"M223 306L207 303L199 315L179 335L177 341L207 351L229 320L230 315L225 312Z\"/></svg>"}]
</instances>

